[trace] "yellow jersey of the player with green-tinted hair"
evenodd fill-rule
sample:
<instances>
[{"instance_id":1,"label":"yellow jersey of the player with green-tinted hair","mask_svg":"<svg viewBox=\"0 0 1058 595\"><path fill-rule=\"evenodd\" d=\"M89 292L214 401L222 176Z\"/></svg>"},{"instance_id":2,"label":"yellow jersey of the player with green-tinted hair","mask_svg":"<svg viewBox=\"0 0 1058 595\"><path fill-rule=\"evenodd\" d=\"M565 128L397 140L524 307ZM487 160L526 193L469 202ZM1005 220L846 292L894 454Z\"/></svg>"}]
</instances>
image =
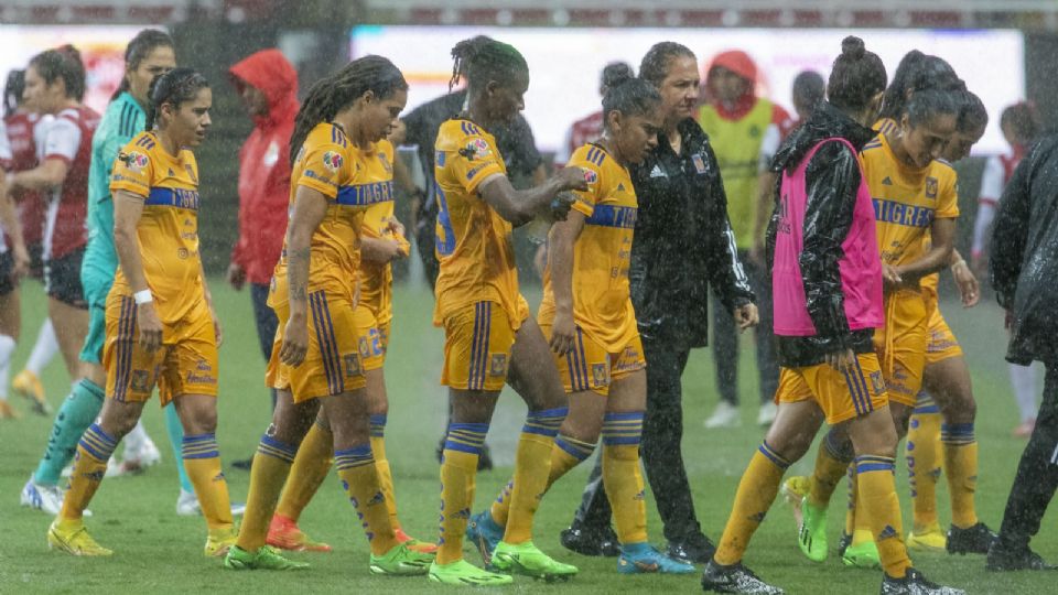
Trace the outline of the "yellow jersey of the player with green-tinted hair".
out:
<instances>
[{"instance_id":1,"label":"yellow jersey of the player with green-tinted hair","mask_svg":"<svg viewBox=\"0 0 1058 595\"><path fill-rule=\"evenodd\" d=\"M507 175L496 139L469 120L449 120L434 145L436 253L441 271L433 322L475 302L496 302L518 328L528 314L518 294L511 226L477 194L482 181Z\"/></svg>"}]
</instances>

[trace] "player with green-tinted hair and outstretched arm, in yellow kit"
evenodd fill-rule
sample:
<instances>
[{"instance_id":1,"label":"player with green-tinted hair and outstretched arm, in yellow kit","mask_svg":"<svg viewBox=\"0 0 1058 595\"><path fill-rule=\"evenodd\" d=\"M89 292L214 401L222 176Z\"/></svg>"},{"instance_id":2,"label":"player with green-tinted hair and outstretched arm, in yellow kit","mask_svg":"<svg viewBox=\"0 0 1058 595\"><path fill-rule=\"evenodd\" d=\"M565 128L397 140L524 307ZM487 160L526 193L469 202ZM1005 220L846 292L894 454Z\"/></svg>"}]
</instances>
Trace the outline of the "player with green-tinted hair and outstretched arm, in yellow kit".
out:
<instances>
[{"instance_id":1,"label":"player with green-tinted hair and outstretched arm, in yellow kit","mask_svg":"<svg viewBox=\"0 0 1058 595\"><path fill-rule=\"evenodd\" d=\"M486 36L456 44L453 83L467 80L460 118L438 131L435 187L436 283L434 324L444 327L444 368L452 418L441 463L441 539L430 578L452 585L508 584L508 574L463 559L474 504L477 461L496 400L510 382L529 409L515 458L511 511L504 541L487 560L509 573L563 578L576 569L532 544L532 517L547 488L551 447L565 419L566 397L548 343L518 292L510 232L533 217L564 218L568 190L585 190L584 172L566 167L540 186L516 191L488 128L514 118L529 87L526 60Z\"/></svg>"}]
</instances>

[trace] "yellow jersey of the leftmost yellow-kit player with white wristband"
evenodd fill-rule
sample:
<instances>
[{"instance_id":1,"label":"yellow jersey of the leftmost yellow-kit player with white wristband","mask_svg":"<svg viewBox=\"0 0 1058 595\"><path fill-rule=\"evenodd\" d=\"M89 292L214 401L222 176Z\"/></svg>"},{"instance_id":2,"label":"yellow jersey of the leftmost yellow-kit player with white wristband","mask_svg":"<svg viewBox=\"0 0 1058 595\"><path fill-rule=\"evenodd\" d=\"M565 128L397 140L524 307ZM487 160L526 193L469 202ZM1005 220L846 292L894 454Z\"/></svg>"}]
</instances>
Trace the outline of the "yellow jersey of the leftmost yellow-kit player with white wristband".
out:
<instances>
[{"instance_id":1,"label":"yellow jersey of the leftmost yellow-kit player with white wristband","mask_svg":"<svg viewBox=\"0 0 1058 595\"><path fill-rule=\"evenodd\" d=\"M165 152L153 132L141 132L114 162L110 193L130 192L143 198L137 225L143 274L159 318L173 324L204 296L198 256L198 164L182 150ZM118 267L114 291L131 295Z\"/></svg>"}]
</instances>

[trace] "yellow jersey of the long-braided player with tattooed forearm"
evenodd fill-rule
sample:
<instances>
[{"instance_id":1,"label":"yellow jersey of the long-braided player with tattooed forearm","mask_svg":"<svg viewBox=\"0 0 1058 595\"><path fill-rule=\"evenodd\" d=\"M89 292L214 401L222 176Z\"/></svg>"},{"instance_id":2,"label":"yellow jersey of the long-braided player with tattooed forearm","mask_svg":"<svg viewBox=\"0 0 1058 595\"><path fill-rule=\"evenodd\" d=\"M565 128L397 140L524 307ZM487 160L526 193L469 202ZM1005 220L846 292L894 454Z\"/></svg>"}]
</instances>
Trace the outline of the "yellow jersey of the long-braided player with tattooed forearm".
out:
<instances>
[{"instance_id":1,"label":"yellow jersey of the long-braided player with tattooed forearm","mask_svg":"<svg viewBox=\"0 0 1058 595\"><path fill-rule=\"evenodd\" d=\"M356 294L356 271L360 263L360 227L366 203L375 196L374 187L357 185L364 175L359 151L352 147L341 127L319 123L309 132L298 152L290 174L290 210L299 186L315 190L327 197L327 213L312 235L310 244L309 292L324 290L345 295ZM276 264L273 291L269 304L287 301L287 246ZM279 285L282 285L280 288Z\"/></svg>"}]
</instances>

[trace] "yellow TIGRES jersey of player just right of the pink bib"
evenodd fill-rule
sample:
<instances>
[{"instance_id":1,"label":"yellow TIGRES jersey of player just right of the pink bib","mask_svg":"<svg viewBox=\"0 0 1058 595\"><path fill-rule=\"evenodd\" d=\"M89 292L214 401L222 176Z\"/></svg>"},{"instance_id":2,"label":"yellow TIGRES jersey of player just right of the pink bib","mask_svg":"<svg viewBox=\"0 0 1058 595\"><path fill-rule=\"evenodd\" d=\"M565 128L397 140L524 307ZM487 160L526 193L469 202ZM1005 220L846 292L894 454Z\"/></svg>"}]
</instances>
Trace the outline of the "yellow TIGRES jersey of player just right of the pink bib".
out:
<instances>
[{"instance_id":1,"label":"yellow TIGRES jersey of player just right of the pink bib","mask_svg":"<svg viewBox=\"0 0 1058 595\"><path fill-rule=\"evenodd\" d=\"M862 154L882 261L898 266L918 260L933 219L959 216L956 171L941 161L926 167L900 163L885 134L864 145Z\"/></svg>"}]
</instances>

